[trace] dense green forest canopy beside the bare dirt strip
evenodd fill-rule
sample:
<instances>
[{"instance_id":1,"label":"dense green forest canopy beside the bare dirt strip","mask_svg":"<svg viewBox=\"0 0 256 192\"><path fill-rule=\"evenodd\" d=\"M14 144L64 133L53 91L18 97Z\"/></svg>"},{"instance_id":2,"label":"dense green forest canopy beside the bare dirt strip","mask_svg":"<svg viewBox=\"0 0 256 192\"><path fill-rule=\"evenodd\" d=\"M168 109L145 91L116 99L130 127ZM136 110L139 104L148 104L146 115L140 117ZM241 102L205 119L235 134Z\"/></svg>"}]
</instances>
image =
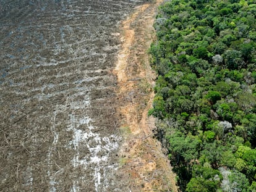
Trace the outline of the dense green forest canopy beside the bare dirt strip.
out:
<instances>
[{"instance_id":1,"label":"dense green forest canopy beside the bare dirt strip","mask_svg":"<svg viewBox=\"0 0 256 192\"><path fill-rule=\"evenodd\" d=\"M255 15L245 0L160 7L148 114L182 191L256 191Z\"/></svg>"}]
</instances>

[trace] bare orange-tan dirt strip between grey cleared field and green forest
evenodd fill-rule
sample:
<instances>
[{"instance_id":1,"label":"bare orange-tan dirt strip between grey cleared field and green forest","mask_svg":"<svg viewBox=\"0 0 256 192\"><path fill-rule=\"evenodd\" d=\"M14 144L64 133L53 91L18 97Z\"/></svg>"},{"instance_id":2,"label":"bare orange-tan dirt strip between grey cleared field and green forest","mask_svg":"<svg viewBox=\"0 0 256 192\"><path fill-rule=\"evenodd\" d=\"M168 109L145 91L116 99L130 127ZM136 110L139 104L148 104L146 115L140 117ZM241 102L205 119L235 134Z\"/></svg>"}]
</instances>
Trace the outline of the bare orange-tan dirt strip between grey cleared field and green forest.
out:
<instances>
[{"instance_id":1,"label":"bare orange-tan dirt strip between grey cleared field and green forest","mask_svg":"<svg viewBox=\"0 0 256 192\"><path fill-rule=\"evenodd\" d=\"M153 22L162 0L136 7L122 23L122 49L114 72L119 84L119 177L126 191L178 191L175 175L161 143L153 138L155 119L148 117L156 77L147 54L155 38Z\"/></svg>"}]
</instances>

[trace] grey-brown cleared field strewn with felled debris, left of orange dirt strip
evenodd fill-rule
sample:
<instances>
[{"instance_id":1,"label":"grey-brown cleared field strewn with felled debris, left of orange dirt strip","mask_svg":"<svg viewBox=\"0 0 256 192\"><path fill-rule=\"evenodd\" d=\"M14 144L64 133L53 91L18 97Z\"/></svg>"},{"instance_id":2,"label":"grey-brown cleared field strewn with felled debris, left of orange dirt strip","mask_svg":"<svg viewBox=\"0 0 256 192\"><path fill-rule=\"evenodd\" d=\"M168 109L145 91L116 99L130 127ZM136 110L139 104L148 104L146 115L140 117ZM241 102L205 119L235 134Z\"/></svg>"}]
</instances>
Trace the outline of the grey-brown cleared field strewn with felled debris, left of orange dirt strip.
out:
<instances>
[{"instance_id":1,"label":"grey-brown cleared field strewn with felled debris, left of orange dirt strip","mask_svg":"<svg viewBox=\"0 0 256 192\"><path fill-rule=\"evenodd\" d=\"M142 0L0 1L0 190L119 189L119 24Z\"/></svg>"}]
</instances>

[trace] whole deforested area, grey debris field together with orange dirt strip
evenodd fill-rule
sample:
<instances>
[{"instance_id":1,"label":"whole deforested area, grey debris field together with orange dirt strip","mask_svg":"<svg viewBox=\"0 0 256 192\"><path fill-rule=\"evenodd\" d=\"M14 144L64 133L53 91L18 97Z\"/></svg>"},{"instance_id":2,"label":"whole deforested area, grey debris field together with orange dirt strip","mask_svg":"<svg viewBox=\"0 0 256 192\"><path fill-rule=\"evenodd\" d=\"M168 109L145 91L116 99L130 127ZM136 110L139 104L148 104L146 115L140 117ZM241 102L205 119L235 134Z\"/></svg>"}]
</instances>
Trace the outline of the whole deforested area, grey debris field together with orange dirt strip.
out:
<instances>
[{"instance_id":1,"label":"whole deforested area, grey debris field together with orange dirt strip","mask_svg":"<svg viewBox=\"0 0 256 192\"><path fill-rule=\"evenodd\" d=\"M1 191L169 188L147 119L156 4L142 3L0 2Z\"/></svg>"}]
</instances>

